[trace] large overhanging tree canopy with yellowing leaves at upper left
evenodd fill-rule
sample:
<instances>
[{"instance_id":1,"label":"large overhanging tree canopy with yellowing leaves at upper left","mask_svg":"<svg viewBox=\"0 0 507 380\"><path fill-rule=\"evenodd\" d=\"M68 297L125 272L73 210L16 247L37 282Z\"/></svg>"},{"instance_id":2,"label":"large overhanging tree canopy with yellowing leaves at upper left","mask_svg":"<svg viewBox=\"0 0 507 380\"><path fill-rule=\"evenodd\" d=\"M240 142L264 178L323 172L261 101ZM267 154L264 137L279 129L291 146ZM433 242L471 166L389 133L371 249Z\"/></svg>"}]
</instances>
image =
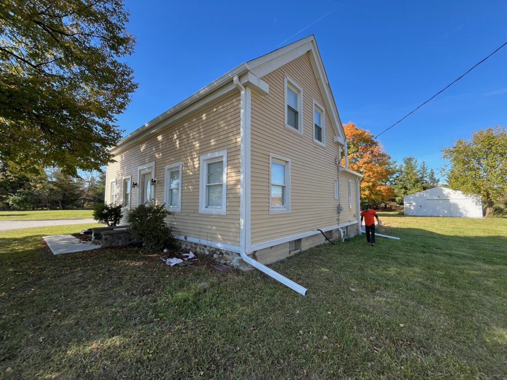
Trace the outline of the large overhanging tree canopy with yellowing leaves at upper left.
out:
<instances>
[{"instance_id":1,"label":"large overhanging tree canopy with yellowing leaves at upper left","mask_svg":"<svg viewBox=\"0 0 507 380\"><path fill-rule=\"evenodd\" d=\"M135 90L122 0L9 0L0 6L0 161L99 170Z\"/></svg>"}]
</instances>

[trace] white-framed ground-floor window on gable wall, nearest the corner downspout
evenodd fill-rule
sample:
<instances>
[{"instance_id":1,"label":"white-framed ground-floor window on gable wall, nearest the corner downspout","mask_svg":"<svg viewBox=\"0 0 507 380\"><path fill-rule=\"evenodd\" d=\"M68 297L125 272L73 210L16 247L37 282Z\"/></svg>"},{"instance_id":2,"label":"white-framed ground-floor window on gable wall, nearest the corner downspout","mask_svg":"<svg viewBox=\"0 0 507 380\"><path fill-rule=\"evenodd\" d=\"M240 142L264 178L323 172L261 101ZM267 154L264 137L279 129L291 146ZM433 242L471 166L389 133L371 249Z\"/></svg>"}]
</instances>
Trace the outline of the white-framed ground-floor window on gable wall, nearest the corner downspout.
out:
<instances>
[{"instance_id":1,"label":"white-framed ground-floor window on gable wall, nearest the corner downspout","mask_svg":"<svg viewBox=\"0 0 507 380\"><path fill-rule=\"evenodd\" d=\"M270 155L269 212L291 211L291 160Z\"/></svg>"}]
</instances>

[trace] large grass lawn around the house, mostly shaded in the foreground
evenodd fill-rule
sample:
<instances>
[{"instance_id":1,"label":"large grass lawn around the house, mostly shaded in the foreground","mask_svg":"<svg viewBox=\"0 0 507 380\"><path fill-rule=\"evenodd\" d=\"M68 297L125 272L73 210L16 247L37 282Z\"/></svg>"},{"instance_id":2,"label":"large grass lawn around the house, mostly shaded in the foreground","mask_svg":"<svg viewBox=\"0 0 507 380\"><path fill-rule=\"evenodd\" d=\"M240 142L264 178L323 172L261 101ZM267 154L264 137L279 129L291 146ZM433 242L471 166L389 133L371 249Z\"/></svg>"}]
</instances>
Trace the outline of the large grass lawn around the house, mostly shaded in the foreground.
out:
<instances>
[{"instance_id":1,"label":"large grass lawn around the house, mostly shaded in the foreground","mask_svg":"<svg viewBox=\"0 0 507 380\"><path fill-rule=\"evenodd\" d=\"M257 271L42 248L84 225L0 232L0 378L505 378L507 220L380 217L402 240L272 265L306 297Z\"/></svg>"}]
</instances>

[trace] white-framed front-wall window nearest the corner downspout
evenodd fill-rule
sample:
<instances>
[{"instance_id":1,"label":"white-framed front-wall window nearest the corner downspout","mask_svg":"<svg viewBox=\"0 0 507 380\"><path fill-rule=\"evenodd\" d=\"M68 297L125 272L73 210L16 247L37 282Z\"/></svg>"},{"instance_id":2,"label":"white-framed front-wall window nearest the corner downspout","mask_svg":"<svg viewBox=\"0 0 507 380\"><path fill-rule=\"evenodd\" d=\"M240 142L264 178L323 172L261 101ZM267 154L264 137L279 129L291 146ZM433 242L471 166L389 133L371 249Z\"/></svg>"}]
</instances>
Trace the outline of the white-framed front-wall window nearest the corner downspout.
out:
<instances>
[{"instance_id":1,"label":"white-framed front-wall window nearest the corner downspout","mask_svg":"<svg viewBox=\"0 0 507 380\"><path fill-rule=\"evenodd\" d=\"M226 214L227 150L201 156L199 212Z\"/></svg>"}]
</instances>

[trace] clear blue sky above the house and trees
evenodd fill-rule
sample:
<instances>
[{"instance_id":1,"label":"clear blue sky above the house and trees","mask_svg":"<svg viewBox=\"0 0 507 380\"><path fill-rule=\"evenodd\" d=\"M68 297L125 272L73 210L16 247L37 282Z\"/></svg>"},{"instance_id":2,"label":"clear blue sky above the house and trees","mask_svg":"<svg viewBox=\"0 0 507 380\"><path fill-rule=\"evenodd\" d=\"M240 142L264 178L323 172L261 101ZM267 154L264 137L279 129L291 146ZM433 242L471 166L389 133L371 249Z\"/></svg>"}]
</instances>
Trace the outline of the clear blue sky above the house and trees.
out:
<instances>
[{"instance_id":1,"label":"clear blue sky above the house and trees","mask_svg":"<svg viewBox=\"0 0 507 380\"><path fill-rule=\"evenodd\" d=\"M127 0L139 88L132 132L238 64L315 34L343 123L377 134L507 41L507 2ZM380 137L397 161L507 126L507 47Z\"/></svg>"}]
</instances>

